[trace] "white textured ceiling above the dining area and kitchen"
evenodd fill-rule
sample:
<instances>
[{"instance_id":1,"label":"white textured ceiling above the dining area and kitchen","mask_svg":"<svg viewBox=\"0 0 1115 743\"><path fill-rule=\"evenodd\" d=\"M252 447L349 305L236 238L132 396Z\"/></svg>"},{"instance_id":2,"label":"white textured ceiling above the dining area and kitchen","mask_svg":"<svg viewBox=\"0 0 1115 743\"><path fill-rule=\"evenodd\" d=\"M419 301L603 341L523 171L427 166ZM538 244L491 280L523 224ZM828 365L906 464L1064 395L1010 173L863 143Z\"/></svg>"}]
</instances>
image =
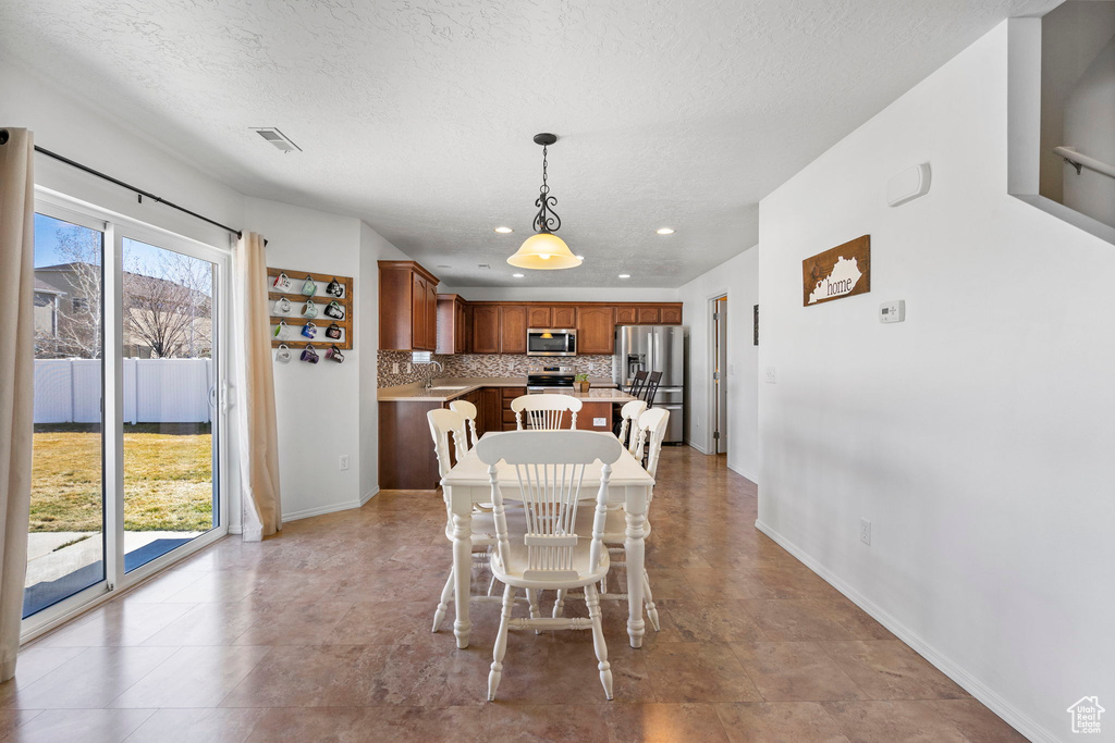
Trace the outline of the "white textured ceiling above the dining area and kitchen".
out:
<instances>
[{"instance_id":1,"label":"white textured ceiling above the dining area and kitchen","mask_svg":"<svg viewBox=\"0 0 1115 743\"><path fill-rule=\"evenodd\" d=\"M1056 4L36 0L0 3L0 49L246 194L359 216L450 285L679 286L752 246L758 199L841 137ZM550 184L585 262L515 280L537 131L561 137Z\"/></svg>"}]
</instances>

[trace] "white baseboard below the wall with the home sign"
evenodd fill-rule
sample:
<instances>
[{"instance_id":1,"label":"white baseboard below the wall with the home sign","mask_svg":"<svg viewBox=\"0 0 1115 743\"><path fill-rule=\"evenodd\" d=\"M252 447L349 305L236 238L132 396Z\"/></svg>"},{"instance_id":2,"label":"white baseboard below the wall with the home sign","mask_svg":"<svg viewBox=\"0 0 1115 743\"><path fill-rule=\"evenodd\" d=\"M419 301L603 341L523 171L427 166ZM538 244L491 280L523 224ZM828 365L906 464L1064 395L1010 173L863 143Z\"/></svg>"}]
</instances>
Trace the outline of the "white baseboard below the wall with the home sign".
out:
<instances>
[{"instance_id":1,"label":"white baseboard below the wall with the home sign","mask_svg":"<svg viewBox=\"0 0 1115 743\"><path fill-rule=\"evenodd\" d=\"M899 639L917 651L919 655L933 664L938 671L959 684L961 688L976 697L993 713L1002 717L1011 727L1025 735L1027 739L1035 741L1035 743L1057 743L1060 740L1028 715L1020 712L1016 706L999 696L999 694L988 688L983 682L972 676L963 667L938 652L932 645L923 641L913 630L888 614L882 607L869 600L842 578L831 573L797 545L786 539L762 520L756 519L755 528L774 539L779 547L801 560L807 568L821 576L821 578L828 583L833 588L844 594L849 600L871 615L871 617L879 624L894 633Z\"/></svg>"}]
</instances>

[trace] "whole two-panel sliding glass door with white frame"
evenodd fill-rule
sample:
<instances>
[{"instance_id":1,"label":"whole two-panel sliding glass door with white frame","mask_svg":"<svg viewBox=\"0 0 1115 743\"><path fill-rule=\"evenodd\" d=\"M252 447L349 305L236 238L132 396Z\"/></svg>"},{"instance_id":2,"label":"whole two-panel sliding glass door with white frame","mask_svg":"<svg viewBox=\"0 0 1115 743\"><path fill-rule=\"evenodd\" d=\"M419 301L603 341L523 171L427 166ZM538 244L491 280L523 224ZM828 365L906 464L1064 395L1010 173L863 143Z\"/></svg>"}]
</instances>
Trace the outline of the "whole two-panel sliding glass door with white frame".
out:
<instances>
[{"instance_id":1,"label":"whole two-panel sliding glass door with white frame","mask_svg":"<svg viewBox=\"0 0 1115 743\"><path fill-rule=\"evenodd\" d=\"M227 252L37 206L25 632L227 531Z\"/></svg>"}]
</instances>

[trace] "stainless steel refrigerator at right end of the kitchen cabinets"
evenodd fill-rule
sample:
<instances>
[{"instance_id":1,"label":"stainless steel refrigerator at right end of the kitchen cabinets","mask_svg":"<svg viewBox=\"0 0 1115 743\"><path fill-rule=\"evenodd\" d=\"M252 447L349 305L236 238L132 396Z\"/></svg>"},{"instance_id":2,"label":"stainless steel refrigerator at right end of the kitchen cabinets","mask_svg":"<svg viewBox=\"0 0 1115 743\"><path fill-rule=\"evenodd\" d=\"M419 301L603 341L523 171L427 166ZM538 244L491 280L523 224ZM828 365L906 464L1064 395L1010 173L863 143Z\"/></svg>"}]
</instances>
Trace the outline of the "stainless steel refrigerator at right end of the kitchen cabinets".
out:
<instances>
[{"instance_id":1,"label":"stainless steel refrigerator at right end of the kitchen cabinets","mask_svg":"<svg viewBox=\"0 0 1115 743\"><path fill-rule=\"evenodd\" d=\"M627 388L636 372L662 372L656 408L670 411L667 443L685 441L686 326L620 325L615 329L612 379Z\"/></svg>"}]
</instances>

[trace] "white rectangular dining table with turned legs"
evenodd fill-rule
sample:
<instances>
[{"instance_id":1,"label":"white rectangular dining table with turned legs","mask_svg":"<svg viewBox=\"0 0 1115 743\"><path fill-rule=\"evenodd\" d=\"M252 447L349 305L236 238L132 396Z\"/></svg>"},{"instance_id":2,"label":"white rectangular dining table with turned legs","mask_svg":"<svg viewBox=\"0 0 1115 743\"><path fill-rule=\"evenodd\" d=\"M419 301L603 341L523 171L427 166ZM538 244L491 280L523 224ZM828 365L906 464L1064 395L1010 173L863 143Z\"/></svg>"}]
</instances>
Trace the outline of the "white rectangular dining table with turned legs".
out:
<instances>
[{"instance_id":1,"label":"white rectangular dining table with turned legs","mask_svg":"<svg viewBox=\"0 0 1115 743\"><path fill-rule=\"evenodd\" d=\"M597 433L612 436L604 432ZM491 436L503 436L503 432L491 431L485 433L483 438L486 439ZM598 462L585 468L581 493L586 500L597 497L600 489L601 467ZM518 478L512 466L501 461L496 466L496 479L506 500L518 499ZM620 458L612 465L612 473L608 480L608 502L622 504L627 512L623 547L627 554L628 635L631 637L631 647L641 647L642 637L647 632L647 625L642 618L642 575L646 569L646 531L643 526L647 522L647 505L652 496L653 487L655 479L627 449L623 449ZM492 485L488 481L487 465L476 456L475 447L442 478L442 490L449 518L453 521L454 605L456 607L453 634L457 638L457 647L464 648L468 647L468 636L473 627L468 615L473 564L473 505L492 501Z\"/></svg>"}]
</instances>

